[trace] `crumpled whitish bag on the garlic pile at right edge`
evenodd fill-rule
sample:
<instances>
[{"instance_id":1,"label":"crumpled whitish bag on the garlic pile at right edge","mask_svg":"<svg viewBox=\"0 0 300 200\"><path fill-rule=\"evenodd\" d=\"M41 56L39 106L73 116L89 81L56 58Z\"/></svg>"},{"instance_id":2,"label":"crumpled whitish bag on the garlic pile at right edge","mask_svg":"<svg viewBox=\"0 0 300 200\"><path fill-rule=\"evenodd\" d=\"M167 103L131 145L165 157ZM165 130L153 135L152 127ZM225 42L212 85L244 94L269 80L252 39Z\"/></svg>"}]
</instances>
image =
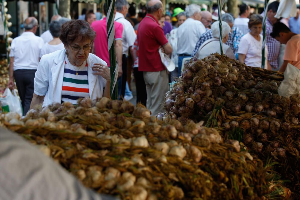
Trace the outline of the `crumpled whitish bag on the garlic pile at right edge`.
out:
<instances>
[{"instance_id":1,"label":"crumpled whitish bag on the garlic pile at right edge","mask_svg":"<svg viewBox=\"0 0 300 200\"><path fill-rule=\"evenodd\" d=\"M284 79L278 88L278 94L290 97L300 92L300 70L292 64L287 64L284 71Z\"/></svg>"}]
</instances>

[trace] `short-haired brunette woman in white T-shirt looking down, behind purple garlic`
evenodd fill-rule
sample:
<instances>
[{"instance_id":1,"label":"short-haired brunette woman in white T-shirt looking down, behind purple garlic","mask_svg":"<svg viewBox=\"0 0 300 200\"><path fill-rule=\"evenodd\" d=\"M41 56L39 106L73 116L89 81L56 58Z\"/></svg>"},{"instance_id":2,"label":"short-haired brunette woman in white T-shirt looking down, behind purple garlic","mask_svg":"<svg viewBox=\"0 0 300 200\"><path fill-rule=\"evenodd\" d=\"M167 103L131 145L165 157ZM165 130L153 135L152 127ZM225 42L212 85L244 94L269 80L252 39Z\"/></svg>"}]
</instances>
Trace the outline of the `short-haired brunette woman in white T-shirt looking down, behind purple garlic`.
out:
<instances>
[{"instance_id":1,"label":"short-haired brunette woman in white T-shirt looking down, behind purple garlic","mask_svg":"<svg viewBox=\"0 0 300 200\"><path fill-rule=\"evenodd\" d=\"M238 46L238 61L251 67L261 67L262 63L262 16L253 14L249 20L250 32L245 34ZM268 49L265 46L265 69L271 69L267 61Z\"/></svg>"}]
</instances>

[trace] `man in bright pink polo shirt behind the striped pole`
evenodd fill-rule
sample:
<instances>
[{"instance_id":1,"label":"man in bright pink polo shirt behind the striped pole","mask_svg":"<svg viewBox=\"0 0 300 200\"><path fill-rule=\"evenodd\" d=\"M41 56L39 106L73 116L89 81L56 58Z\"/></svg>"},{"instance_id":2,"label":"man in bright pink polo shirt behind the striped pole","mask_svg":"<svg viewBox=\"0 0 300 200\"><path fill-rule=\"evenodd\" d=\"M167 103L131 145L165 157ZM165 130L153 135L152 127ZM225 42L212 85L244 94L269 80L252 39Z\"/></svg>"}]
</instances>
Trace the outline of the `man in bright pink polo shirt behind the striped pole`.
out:
<instances>
[{"instance_id":1,"label":"man in bright pink polo shirt behind the striped pole","mask_svg":"<svg viewBox=\"0 0 300 200\"><path fill-rule=\"evenodd\" d=\"M105 4L103 5L103 13L106 15ZM115 9L116 14L116 9ZM107 30L106 30L106 17L102 20L95 21L91 24L91 28L96 32L96 38L94 41L93 48L95 48L95 55L104 60L108 67L110 67L110 56L108 52L107 43ZM122 32L123 25L119 22L115 22L115 40L116 40L116 56L118 62L119 74L118 77L122 76Z\"/></svg>"}]
</instances>

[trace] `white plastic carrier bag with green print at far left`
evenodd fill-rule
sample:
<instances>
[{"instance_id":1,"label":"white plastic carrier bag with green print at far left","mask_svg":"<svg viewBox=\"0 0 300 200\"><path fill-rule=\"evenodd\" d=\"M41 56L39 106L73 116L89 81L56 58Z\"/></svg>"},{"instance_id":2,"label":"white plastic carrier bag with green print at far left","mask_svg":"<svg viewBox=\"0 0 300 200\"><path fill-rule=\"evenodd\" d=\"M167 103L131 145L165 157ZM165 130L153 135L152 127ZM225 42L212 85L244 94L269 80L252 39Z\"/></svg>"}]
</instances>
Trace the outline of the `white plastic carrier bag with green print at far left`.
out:
<instances>
[{"instance_id":1,"label":"white plastic carrier bag with green print at far left","mask_svg":"<svg viewBox=\"0 0 300 200\"><path fill-rule=\"evenodd\" d=\"M20 116L23 115L21 100L15 90L11 93L10 89L6 88L0 101L2 112L16 112Z\"/></svg>"}]
</instances>

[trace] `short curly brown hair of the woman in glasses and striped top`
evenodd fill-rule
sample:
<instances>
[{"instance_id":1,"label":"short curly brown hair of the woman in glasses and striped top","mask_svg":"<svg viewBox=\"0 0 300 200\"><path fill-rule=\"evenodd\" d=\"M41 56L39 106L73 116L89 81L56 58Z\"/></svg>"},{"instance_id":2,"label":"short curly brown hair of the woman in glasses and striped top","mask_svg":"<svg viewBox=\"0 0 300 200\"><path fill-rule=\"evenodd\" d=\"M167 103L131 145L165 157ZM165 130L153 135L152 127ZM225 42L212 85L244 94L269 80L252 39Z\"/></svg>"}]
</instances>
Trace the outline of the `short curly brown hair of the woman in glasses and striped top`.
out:
<instances>
[{"instance_id":1,"label":"short curly brown hair of the woman in glasses and striped top","mask_svg":"<svg viewBox=\"0 0 300 200\"><path fill-rule=\"evenodd\" d=\"M73 43L77 40L95 40L96 33L88 22L80 19L67 21L61 26L59 39L64 45Z\"/></svg>"}]
</instances>

